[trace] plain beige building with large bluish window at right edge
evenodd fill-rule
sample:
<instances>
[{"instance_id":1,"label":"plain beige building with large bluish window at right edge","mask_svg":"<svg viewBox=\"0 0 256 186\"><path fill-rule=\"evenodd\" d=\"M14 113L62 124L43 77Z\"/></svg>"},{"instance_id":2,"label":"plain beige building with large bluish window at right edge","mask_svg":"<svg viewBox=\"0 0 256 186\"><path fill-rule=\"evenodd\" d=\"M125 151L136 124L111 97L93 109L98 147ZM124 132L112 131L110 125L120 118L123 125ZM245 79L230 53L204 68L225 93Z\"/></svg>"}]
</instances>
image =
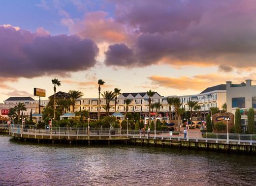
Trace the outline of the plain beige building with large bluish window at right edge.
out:
<instances>
[{"instance_id":1,"label":"plain beige building with large bluish window at right edge","mask_svg":"<svg viewBox=\"0 0 256 186\"><path fill-rule=\"evenodd\" d=\"M245 80L239 84L226 81L226 108L227 112L235 114L236 108L241 109L241 124L247 130L247 111L250 108L256 110L256 85L252 85L252 80Z\"/></svg>"}]
</instances>

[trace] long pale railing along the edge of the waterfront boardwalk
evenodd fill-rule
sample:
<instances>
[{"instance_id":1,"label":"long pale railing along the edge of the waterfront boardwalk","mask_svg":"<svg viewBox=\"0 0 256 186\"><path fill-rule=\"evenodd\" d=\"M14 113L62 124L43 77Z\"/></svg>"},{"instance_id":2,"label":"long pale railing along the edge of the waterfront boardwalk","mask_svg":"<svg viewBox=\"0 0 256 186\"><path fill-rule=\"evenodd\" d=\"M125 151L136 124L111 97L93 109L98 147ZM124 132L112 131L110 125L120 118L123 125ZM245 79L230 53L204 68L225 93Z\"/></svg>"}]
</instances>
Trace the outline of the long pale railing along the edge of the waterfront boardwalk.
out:
<instances>
[{"instance_id":1,"label":"long pale railing along the edge of the waterfront boardwalk","mask_svg":"<svg viewBox=\"0 0 256 186\"><path fill-rule=\"evenodd\" d=\"M1 126L0 126L1 127ZM256 134L236 134L236 133L201 133L188 131L186 136L184 132L169 131L147 131L142 130L121 130L120 128L71 128L71 127L53 127L51 129L36 129L35 126L11 125L3 126L10 129L10 134L28 134L28 135L49 135L49 136L126 136L129 138L146 138L146 139L169 139L169 140L186 140L186 141L202 141L214 143L249 143L256 144Z\"/></svg>"}]
</instances>

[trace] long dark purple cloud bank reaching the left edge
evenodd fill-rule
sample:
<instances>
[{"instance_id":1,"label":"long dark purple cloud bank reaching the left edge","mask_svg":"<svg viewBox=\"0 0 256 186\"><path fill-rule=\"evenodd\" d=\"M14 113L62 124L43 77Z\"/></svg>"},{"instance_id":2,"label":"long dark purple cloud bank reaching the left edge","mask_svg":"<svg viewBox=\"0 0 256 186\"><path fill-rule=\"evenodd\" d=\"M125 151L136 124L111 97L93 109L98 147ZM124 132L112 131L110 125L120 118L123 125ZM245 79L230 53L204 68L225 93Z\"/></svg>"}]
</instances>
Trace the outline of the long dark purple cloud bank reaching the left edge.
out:
<instances>
[{"instance_id":1,"label":"long dark purple cloud bank reaching the left edge","mask_svg":"<svg viewBox=\"0 0 256 186\"><path fill-rule=\"evenodd\" d=\"M1 77L61 75L96 65L98 48L91 39L0 26L0 41Z\"/></svg>"}]
</instances>

